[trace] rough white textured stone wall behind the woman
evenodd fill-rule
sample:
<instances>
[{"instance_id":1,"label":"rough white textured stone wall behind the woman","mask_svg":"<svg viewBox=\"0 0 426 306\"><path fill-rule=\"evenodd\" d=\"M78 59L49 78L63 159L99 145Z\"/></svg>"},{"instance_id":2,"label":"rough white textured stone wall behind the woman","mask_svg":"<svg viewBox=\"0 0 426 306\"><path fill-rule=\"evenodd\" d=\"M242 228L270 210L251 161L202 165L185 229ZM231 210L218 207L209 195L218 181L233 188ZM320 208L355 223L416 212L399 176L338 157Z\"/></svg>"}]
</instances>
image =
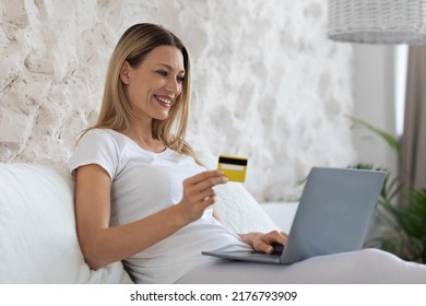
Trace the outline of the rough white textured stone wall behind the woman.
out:
<instances>
[{"instance_id":1,"label":"rough white textured stone wall behind the woman","mask_svg":"<svg viewBox=\"0 0 426 306\"><path fill-rule=\"evenodd\" d=\"M323 0L2 0L0 161L64 162L97 116L109 55L133 23L173 30L192 58L188 140L249 157L259 200L297 197L312 165L355 157L352 49Z\"/></svg>"}]
</instances>

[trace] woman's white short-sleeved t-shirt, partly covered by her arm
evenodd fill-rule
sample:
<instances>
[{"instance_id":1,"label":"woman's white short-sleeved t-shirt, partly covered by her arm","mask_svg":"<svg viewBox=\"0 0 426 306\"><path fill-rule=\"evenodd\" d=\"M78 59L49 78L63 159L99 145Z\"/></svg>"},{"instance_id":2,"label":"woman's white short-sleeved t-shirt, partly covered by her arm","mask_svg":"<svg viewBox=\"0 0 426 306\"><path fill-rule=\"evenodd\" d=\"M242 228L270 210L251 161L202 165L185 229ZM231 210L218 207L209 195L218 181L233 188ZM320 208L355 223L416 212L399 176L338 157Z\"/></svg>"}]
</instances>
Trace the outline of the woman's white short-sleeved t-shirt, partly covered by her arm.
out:
<instances>
[{"instance_id":1,"label":"woman's white short-sleeved t-shirt, partly covered by her arm","mask_svg":"<svg viewBox=\"0 0 426 306\"><path fill-rule=\"evenodd\" d=\"M69 161L73 172L97 164L110 176L110 226L120 226L178 203L182 181L205 170L192 157L166 149L143 150L130 138L109 129L95 129L80 140ZM202 250L248 249L240 237L217 222L209 208L203 215L175 234L123 262L138 283L174 283L191 269L217 259ZM150 233L146 233L150 235Z\"/></svg>"}]
</instances>

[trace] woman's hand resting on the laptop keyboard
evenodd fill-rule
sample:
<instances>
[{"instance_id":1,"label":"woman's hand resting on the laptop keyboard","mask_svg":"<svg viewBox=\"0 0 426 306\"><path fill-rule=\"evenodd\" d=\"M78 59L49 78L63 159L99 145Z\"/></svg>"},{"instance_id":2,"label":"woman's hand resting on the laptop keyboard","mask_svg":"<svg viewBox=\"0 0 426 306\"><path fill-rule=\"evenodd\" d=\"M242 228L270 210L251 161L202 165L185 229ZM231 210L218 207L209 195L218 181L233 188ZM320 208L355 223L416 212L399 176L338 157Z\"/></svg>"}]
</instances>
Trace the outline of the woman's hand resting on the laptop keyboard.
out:
<instances>
[{"instance_id":1,"label":"woman's hand resting on the laptop keyboard","mask_svg":"<svg viewBox=\"0 0 426 306\"><path fill-rule=\"evenodd\" d=\"M246 244L250 245L256 251L271 254L274 249L285 246L287 243L287 234L284 232L272 231L264 233L247 233L239 235Z\"/></svg>"}]
</instances>

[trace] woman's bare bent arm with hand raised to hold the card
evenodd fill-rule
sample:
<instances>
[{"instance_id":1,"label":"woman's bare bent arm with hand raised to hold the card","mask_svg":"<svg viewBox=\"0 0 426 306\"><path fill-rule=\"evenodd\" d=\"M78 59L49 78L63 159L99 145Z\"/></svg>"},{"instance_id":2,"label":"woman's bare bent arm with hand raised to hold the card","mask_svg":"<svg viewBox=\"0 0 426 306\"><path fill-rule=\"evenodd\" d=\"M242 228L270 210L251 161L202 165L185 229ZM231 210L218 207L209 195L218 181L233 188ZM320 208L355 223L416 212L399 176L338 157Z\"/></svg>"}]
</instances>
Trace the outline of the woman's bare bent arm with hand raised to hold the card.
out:
<instances>
[{"instance_id":1,"label":"woman's bare bent arm with hand raised to hold the card","mask_svg":"<svg viewBox=\"0 0 426 306\"><path fill-rule=\"evenodd\" d=\"M109 175L91 164L76 169L75 217L79 243L92 269L128 258L199 219L214 202L213 186L226 183L221 172L204 172L184 183L181 201L145 219L109 227Z\"/></svg>"}]
</instances>

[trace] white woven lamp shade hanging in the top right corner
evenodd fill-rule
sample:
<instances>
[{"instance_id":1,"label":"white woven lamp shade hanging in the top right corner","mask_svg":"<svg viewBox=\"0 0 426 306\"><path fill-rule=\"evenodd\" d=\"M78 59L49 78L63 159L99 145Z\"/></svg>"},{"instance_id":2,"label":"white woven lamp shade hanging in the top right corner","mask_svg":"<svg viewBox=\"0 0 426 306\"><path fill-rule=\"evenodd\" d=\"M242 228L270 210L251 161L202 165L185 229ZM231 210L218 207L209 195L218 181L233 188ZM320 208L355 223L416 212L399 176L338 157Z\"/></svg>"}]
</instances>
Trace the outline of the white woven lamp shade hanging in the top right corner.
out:
<instances>
[{"instance_id":1,"label":"white woven lamp shade hanging in the top right corner","mask_svg":"<svg viewBox=\"0 0 426 306\"><path fill-rule=\"evenodd\" d=\"M330 39L426 45L426 0L329 0Z\"/></svg>"}]
</instances>

